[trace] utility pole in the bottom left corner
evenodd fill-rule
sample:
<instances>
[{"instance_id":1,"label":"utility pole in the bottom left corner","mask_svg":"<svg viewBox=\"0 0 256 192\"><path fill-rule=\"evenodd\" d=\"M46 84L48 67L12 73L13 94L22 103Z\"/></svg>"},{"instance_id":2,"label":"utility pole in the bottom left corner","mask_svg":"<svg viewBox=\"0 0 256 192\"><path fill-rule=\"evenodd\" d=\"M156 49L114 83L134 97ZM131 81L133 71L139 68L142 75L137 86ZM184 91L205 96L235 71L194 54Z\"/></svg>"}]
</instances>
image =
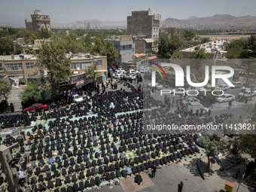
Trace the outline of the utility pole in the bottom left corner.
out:
<instances>
[{"instance_id":1,"label":"utility pole in the bottom left corner","mask_svg":"<svg viewBox=\"0 0 256 192\"><path fill-rule=\"evenodd\" d=\"M8 180L8 191L19 192L20 184L18 184L19 174L15 166L10 166L9 163L13 160L11 156L10 149L17 147L18 143L7 147L5 145L0 145L0 161L2 165L3 172Z\"/></svg>"}]
</instances>

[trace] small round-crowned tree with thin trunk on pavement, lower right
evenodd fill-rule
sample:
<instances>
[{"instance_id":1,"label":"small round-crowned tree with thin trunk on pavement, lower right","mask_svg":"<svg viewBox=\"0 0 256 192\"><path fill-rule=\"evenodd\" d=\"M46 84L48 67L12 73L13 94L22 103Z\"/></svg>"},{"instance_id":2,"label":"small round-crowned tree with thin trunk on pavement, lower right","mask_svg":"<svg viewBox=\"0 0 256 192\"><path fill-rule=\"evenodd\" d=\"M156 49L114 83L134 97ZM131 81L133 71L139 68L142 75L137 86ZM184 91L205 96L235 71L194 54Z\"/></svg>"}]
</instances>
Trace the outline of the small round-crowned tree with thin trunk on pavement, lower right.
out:
<instances>
[{"instance_id":1,"label":"small round-crowned tree with thin trunk on pavement, lower right","mask_svg":"<svg viewBox=\"0 0 256 192\"><path fill-rule=\"evenodd\" d=\"M208 158L207 169L210 169L210 157L227 151L227 141L220 134L206 135L202 138L203 146Z\"/></svg>"}]
</instances>

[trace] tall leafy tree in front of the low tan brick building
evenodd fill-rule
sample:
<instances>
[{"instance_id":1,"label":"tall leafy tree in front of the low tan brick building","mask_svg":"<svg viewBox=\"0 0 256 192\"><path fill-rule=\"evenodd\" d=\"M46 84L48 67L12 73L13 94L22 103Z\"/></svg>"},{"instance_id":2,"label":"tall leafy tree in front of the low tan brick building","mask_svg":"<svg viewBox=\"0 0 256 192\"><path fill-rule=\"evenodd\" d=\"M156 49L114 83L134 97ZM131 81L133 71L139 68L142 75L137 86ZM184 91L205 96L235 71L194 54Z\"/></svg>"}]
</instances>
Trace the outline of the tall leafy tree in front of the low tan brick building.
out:
<instances>
[{"instance_id":1,"label":"tall leafy tree in front of the low tan brick building","mask_svg":"<svg viewBox=\"0 0 256 192\"><path fill-rule=\"evenodd\" d=\"M54 98L58 93L58 86L61 81L66 81L71 75L70 57L66 56L66 49L59 42L53 41L50 44L42 44L38 62L43 90L47 90ZM44 78L44 69L47 69L47 77Z\"/></svg>"}]
</instances>

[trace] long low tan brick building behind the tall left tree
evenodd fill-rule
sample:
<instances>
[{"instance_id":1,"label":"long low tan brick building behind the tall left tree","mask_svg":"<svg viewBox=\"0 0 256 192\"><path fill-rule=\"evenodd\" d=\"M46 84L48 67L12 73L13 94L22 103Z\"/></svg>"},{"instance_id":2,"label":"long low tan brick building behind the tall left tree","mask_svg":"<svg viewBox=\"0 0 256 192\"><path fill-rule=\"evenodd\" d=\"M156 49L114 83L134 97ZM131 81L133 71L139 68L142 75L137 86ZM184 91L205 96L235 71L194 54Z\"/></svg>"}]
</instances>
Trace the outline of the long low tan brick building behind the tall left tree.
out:
<instances>
[{"instance_id":1,"label":"long low tan brick building behind the tall left tree","mask_svg":"<svg viewBox=\"0 0 256 192\"><path fill-rule=\"evenodd\" d=\"M70 55L68 55L70 56ZM0 76L8 77L11 84L22 84L27 80L39 78L38 68L35 66L36 56L33 55L9 55L0 56ZM97 64L97 71L102 72L102 77L108 74L107 57L92 56L90 54L78 53L71 56L70 71L73 75L83 74L84 70ZM44 70L47 75L47 69ZM101 83L102 79L99 79Z\"/></svg>"}]
</instances>

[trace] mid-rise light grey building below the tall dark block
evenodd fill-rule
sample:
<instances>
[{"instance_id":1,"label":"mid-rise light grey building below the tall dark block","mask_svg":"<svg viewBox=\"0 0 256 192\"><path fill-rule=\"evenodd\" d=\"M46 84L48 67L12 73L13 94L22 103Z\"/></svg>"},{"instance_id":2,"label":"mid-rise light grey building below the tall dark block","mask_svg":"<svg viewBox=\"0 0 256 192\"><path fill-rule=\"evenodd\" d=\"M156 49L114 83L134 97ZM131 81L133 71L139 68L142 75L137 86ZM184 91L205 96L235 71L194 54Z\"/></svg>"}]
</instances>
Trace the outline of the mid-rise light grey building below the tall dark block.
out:
<instances>
[{"instance_id":1,"label":"mid-rise light grey building below the tall dark block","mask_svg":"<svg viewBox=\"0 0 256 192\"><path fill-rule=\"evenodd\" d=\"M119 39L108 40L114 44L114 47L118 50L119 56L117 60L113 62L114 66L121 66L122 62L132 62L135 55L135 36L132 35L120 35Z\"/></svg>"}]
</instances>

